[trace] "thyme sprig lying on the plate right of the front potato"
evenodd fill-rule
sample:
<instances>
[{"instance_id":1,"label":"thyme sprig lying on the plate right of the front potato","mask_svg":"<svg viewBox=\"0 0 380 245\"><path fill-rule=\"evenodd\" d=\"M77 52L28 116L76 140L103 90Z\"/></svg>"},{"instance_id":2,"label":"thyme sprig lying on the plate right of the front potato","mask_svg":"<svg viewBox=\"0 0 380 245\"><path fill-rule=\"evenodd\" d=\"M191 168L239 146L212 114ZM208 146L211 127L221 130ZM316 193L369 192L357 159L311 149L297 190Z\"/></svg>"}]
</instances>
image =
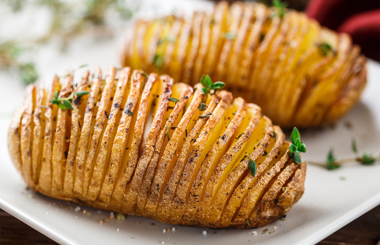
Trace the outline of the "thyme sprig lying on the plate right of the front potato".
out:
<instances>
[{"instance_id":1,"label":"thyme sprig lying on the plate right of the front potato","mask_svg":"<svg viewBox=\"0 0 380 245\"><path fill-rule=\"evenodd\" d=\"M356 157L337 160L336 156L334 155L334 149L330 149L327 153L326 162L324 163L313 162L313 161L307 161L307 162L312 165L317 165L328 170L338 169L342 167L342 164L348 163L348 162L351 162L351 163L358 162L362 165L373 165L376 161L380 162L380 156L373 157L371 154L367 154L367 153L363 153L362 155L359 155L355 139L351 141L351 150L353 153L355 153Z\"/></svg>"}]
</instances>

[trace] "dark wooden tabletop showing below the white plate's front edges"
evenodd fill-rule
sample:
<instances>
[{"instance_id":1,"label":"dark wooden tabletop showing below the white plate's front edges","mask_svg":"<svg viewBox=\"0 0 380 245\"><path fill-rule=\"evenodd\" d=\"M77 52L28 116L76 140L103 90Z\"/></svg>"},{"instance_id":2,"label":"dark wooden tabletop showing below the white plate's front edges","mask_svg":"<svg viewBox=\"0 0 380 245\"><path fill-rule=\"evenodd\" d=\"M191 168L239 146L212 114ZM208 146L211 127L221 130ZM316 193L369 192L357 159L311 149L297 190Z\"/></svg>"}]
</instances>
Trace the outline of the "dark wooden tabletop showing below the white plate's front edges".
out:
<instances>
[{"instance_id":1,"label":"dark wooden tabletop showing below the white plate's front edges","mask_svg":"<svg viewBox=\"0 0 380 245\"><path fill-rule=\"evenodd\" d=\"M319 245L380 245L380 206L370 210ZM0 244L57 244L53 240L25 225L7 212L0 210Z\"/></svg>"}]
</instances>

